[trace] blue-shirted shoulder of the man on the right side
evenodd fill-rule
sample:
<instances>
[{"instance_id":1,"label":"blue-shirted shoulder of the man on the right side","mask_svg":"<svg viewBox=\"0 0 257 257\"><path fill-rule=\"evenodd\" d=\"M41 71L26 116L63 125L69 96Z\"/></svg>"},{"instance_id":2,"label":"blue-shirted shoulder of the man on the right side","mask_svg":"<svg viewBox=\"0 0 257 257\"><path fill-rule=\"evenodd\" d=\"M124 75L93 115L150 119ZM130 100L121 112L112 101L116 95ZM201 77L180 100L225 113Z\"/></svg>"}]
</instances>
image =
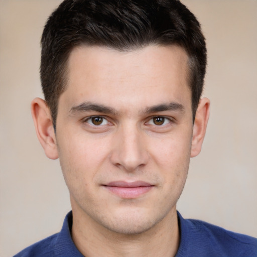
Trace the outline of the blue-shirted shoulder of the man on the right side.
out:
<instances>
[{"instance_id":1,"label":"blue-shirted shoulder of the man on the right side","mask_svg":"<svg viewBox=\"0 0 257 257\"><path fill-rule=\"evenodd\" d=\"M257 238L181 215L179 222L182 248L193 250L196 256L257 256Z\"/></svg>"}]
</instances>

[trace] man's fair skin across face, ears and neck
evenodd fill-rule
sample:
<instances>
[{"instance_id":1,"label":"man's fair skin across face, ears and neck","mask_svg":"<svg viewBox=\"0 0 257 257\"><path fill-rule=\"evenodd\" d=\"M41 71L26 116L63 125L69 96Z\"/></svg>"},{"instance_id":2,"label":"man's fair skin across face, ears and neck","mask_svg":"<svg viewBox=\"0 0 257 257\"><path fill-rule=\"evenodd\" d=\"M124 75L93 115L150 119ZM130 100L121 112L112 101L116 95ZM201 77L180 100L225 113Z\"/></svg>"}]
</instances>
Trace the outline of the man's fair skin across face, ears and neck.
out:
<instances>
[{"instance_id":1,"label":"man's fair skin across face, ears and neck","mask_svg":"<svg viewBox=\"0 0 257 257\"><path fill-rule=\"evenodd\" d=\"M32 102L45 153L60 159L72 237L82 254L176 254L176 202L209 116L209 100L202 98L192 122L187 61L177 46L131 52L77 47L69 57L56 134L44 100ZM110 186L116 181L148 186Z\"/></svg>"}]
</instances>

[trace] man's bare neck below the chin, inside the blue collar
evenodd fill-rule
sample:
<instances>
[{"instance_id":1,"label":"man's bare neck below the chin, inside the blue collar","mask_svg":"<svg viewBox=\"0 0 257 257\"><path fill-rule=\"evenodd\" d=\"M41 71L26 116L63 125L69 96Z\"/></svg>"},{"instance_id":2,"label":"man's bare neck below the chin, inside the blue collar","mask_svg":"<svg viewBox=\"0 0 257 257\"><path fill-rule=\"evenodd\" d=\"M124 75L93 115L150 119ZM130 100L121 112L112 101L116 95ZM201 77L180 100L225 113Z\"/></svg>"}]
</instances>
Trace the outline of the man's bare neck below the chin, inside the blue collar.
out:
<instances>
[{"instance_id":1,"label":"man's bare neck below the chin, inside the blue collar","mask_svg":"<svg viewBox=\"0 0 257 257\"><path fill-rule=\"evenodd\" d=\"M176 206L154 227L140 234L120 234L73 208L72 239L87 257L171 257L179 246Z\"/></svg>"}]
</instances>

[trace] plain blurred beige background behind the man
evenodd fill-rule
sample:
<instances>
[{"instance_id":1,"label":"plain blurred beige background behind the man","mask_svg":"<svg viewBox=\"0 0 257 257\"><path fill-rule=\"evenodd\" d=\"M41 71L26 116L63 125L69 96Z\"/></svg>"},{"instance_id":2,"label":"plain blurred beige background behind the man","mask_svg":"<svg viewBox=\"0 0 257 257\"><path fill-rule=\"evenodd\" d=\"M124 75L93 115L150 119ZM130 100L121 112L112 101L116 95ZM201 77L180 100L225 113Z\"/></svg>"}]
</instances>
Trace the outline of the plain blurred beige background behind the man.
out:
<instances>
[{"instance_id":1,"label":"plain blurred beige background behind the man","mask_svg":"<svg viewBox=\"0 0 257 257\"><path fill-rule=\"evenodd\" d=\"M41 96L40 36L59 0L0 0L0 255L60 230L70 209L58 161L30 115ZM198 218L257 237L257 1L184 0L202 24L211 117L178 203Z\"/></svg>"}]
</instances>

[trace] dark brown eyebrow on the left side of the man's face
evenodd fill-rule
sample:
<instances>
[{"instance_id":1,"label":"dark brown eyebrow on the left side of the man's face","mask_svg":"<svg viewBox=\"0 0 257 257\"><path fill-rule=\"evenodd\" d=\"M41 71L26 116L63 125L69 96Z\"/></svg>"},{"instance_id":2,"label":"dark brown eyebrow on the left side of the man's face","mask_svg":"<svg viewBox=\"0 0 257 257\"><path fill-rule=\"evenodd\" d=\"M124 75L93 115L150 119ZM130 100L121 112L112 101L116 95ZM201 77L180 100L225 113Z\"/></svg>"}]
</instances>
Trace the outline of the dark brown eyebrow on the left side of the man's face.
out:
<instances>
[{"instance_id":1,"label":"dark brown eyebrow on the left side of the man's face","mask_svg":"<svg viewBox=\"0 0 257 257\"><path fill-rule=\"evenodd\" d=\"M74 114L77 112L84 112L84 111L97 111L97 112L101 112L105 114L113 114L113 115L116 114L115 109L104 106L102 104L95 104L92 102L83 102L77 106L71 107L69 110L70 114Z\"/></svg>"}]
</instances>

